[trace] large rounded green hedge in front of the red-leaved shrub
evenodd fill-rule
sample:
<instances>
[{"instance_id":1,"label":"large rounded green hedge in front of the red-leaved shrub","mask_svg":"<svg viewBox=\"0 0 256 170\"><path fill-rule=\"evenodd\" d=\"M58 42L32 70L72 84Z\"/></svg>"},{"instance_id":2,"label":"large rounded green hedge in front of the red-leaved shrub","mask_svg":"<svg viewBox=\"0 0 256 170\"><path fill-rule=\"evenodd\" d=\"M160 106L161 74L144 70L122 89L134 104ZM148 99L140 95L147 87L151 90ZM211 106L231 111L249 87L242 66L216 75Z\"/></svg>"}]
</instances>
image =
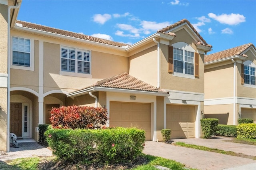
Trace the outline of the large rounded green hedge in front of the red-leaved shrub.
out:
<instances>
[{"instance_id":1,"label":"large rounded green hedge in front of the red-leaved shrub","mask_svg":"<svg viewBox=\"0 0 256 170\"><path fill-rule=\"evenodd\" d=\"M47 142L53 154L70 162L134 160L144 149L145 131L136 128L49 129Z\"/></svg>"}]
</instances>

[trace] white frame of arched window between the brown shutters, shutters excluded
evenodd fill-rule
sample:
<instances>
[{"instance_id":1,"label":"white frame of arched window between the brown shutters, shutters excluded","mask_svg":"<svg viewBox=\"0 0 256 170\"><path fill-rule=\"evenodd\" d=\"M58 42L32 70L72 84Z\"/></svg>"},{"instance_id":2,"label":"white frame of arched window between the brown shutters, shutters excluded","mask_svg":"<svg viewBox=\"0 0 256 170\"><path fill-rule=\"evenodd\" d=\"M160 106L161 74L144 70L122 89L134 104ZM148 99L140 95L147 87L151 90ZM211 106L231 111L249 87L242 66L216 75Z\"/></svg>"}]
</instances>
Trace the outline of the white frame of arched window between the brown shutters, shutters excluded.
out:
<instances>
[{"instance_id":1,"label":"white frame of arched window between the brown shutters, shutters excluded","mask_svg":"<svg viewBox=\"0 0 256 170\"><path fill-rule=\"evenodd\" d=\"M173 75L177 76L177 77L185 77L185 78L189 78L189 79L195 79L195 66L194 65L195 65L195 53L196 53L196 51L194 50L194 48L191 47L190 45L188 45L185 42L177 42L177 43L172 44L172 46L174 48L182 49L183 50L183 73L178 73L178 72L173 71ZM194 67L193 75L185 73L185 63L191 63L191 62L185 61L185 51L193 52L194 53L193 63L192 63L193 67ZM174 65L174 60L177 60L177 59L174 59L174 53L173 53L173 65ZM181 60L178 60L178 61L181 61ZM173 66L173 67L175 67L175 66Z\"/></svg>"}]
</instances>

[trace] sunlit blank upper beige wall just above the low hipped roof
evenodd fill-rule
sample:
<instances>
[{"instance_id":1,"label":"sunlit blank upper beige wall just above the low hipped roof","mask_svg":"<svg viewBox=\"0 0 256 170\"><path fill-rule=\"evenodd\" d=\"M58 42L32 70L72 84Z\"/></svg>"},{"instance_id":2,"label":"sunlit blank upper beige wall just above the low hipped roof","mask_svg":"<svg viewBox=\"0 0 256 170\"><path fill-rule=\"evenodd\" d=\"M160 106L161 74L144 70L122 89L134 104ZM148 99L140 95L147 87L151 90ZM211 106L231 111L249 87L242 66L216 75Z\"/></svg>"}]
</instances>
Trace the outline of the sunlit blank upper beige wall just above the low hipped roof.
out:
<instances>
[{"instance_id":1,"label":"sunlit blank upper beige wall just above the low hipped roof","mask_svg":"<svg viewBox=\"0 0 256 170\"><path fill-rule=\"evenodd\" d=\"M157 86L157 45L129 57L129 74L154 87ZM145 47L141 47L142 49ZM141 49L140 48L140 49Z\"/></svg>"}]
</instances>

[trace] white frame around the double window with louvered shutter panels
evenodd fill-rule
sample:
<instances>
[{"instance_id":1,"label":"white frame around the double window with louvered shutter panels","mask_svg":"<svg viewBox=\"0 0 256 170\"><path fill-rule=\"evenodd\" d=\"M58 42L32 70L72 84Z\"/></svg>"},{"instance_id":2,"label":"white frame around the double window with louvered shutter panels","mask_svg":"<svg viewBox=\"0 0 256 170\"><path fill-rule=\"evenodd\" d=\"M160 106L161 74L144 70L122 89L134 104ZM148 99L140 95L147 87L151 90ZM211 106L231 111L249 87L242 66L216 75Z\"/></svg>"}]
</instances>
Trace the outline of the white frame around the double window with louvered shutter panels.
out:
<instances>
[{"instance_id":1,"label":"white frame around the double window with louvered shutter panels","mask_svg":"<svg viewBox=\"0 0 256 170\"><path fill-rule=\"evenodd\" d=\"M67 58L69 60L74 60L75 61L75 70L74 71L68 71L68 70L62 70L62 59L64 59L62 57L62 48L65 49L74 49L75 51L75 58L74 59L70 59ZM89 53L89 59L88 61L82 61L80 59L78 59L78 52L85 52L85 53ZM75 77L86 77L86 78L92 78L92 52L90 50L86 50L86 49L81 49L81 48L75 48L75 47L70 47L70 46L66 46L66 45L61 45L60 46L60 75L68 75L68 76L75 76ZM90 73L81 73L78 72L78 61L82 61L82 62L86 62L86 63L90 63Z\"/></svg>"}]
</instances>

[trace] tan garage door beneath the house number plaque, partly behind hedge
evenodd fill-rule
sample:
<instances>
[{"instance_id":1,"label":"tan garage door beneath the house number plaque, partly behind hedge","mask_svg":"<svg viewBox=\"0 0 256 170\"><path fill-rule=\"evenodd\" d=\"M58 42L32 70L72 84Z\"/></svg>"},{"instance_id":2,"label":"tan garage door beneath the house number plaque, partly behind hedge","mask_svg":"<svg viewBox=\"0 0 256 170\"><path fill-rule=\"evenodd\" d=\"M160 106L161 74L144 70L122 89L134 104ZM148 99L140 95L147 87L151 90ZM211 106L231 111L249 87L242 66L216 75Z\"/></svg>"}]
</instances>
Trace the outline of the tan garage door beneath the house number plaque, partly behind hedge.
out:
<instances>
[{"instance_id":1,"label":"tan garage door beneath the house number plaque, partly behind hedge","mask_svg":"<svg viewBox=\"0 0 256 170\"><path fill-rule=\"evenodd\" d=\"M145 130L146 140L151 140L151 104L110 102L110 126L136 127Z\"/></svg>"}]
</instances>

